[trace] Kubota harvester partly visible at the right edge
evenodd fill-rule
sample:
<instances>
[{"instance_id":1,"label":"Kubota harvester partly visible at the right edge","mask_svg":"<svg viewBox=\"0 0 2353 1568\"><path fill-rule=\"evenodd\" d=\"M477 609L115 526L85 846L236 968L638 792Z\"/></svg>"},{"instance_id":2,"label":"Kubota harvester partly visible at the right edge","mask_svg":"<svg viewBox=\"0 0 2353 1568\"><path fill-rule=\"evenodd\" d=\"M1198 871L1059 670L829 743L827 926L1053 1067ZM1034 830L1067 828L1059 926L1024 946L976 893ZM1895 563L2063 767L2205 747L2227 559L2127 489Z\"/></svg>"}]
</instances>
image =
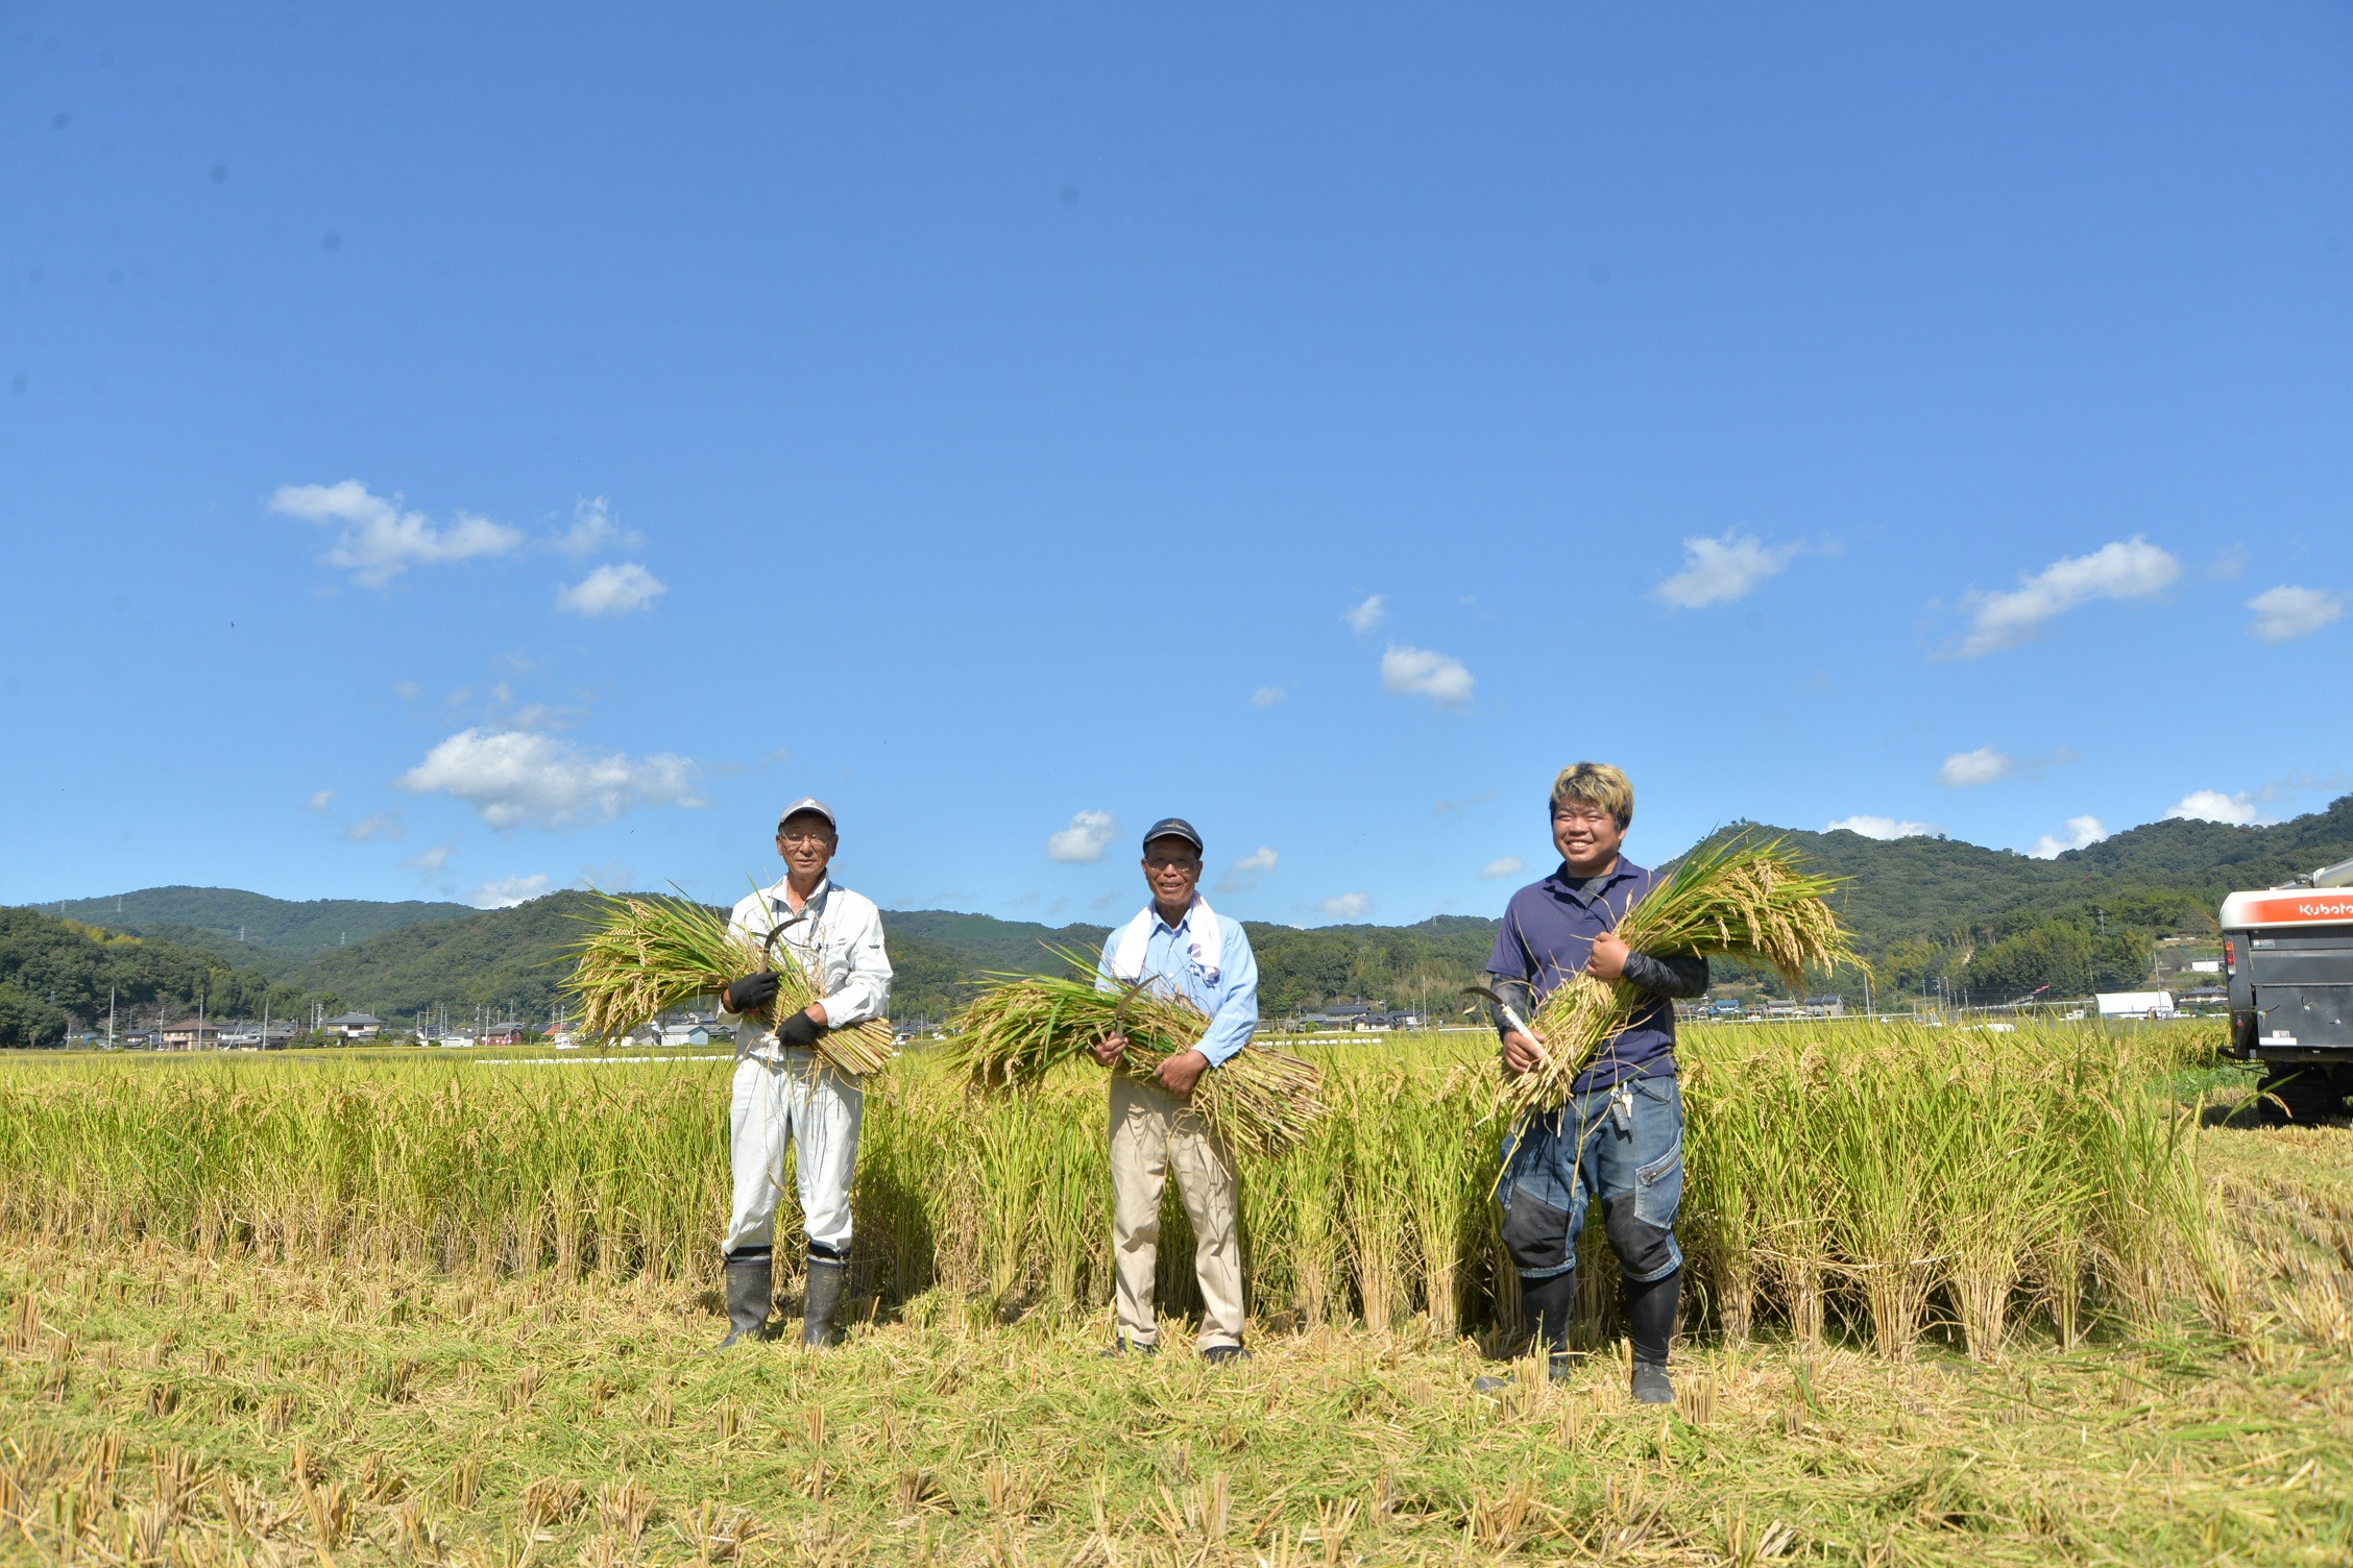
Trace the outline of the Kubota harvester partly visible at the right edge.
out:
<instances>
[{"instance_id":1,"label":"Kubota harvester partly visible at the right edge","mask_svg":"<svg viewBox=\"0 0 2353 1568\"><path fill-rule=\"evenodd\" d=\"M2271 1119L2320 1121L2353 1093L2353 860L2221 900L2228 1056L2264 1065Z\"/></svg>"}]
</instances>

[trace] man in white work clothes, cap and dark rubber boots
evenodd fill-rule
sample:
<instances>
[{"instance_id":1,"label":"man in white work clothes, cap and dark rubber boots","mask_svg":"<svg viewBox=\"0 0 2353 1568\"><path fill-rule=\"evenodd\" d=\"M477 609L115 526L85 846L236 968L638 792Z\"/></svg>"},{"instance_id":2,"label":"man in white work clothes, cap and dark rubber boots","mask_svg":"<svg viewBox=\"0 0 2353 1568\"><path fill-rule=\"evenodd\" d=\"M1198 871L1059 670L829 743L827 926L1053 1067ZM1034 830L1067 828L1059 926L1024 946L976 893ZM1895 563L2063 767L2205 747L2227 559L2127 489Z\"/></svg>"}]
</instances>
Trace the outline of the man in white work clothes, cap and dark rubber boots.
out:
<instances>
[{"instance_id":1,"label":"man in white work clothes, cap and dark rubber boots","mask_svg":"<svg viewBox=\"0 0 2353 1568\"><path fill-rule=\"evenodd\" d=\"M795 799L776 818L784 879L739 900L729 924L755 943L774 938L809 973L819 999L774 1030L739 1020L734 1105L727 1157L734 1208L727 1218L727 1349L767 1333L774 1293L776 1199L784 1197L784 1147L800 1150L800 1220L809 1232L809 1288L800 1307L800 1342L821 1347L833 1333L849 1269L849 1173L859 1157L866 1095L852 1074L828 1067L812 1046L826 1030L880 1018L889 1001L889 954L882 912L864 893L826 877L840 837L833 809ZM779 957L779 961L791 961ZM729 980L720 1006L751 1013L776 997L776 971Z\"/></svg>"}]
</instances>

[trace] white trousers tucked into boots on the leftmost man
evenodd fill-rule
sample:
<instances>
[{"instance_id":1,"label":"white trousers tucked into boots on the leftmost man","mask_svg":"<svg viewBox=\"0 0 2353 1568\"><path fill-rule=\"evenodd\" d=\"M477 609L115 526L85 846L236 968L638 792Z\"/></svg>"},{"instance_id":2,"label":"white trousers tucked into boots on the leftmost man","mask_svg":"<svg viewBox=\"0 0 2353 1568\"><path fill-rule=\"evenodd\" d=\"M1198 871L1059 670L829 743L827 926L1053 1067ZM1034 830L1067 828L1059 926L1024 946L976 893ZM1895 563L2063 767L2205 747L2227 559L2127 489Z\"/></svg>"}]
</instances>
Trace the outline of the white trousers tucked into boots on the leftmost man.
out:
<instances>
[{"instance_id":1,"label":"white trousers tucked into boots on the leftmost man","mask_svg":"<svg viewBox=\"0 0 2353 1568\"><path fill-rule=\"evenodd\" d=\"M727 1159L734 1166L734 1213L720 1251L776 1244L784 1197L784 1147L798 1145L800 1222L819 1255L849 1258L849 1173L859 1159L866 1091L809 1051L767 1048L736 1063L727 1107Z\"/></svg>"}]
</instances>

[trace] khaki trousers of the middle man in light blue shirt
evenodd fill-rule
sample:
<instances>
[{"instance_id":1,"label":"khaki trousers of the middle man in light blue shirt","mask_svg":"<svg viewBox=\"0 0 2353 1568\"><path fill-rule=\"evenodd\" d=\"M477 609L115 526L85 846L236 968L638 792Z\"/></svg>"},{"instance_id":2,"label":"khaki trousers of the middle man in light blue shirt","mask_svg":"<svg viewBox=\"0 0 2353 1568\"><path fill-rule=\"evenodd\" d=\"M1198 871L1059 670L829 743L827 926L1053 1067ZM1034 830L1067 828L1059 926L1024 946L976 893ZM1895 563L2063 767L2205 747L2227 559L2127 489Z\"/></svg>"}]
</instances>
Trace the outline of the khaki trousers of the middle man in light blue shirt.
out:
<instances>
[{"instance_id":1,"label":"khaki trousers of the middle man in light blue shirt","mask_svg":"<svg viewBox=\"0 0 2353 1568\"><path fill-rule=\"evenodd\" d=\"M1212 1067L1214 1072L1214 1067ZM1158 1345L1153 1274L1160 1265L1160 1194L1169 1168L1193 1220L1200 1274L1202 1349L1242 1342L1242 1225L1233 1154L1200 1119L1151 1079L1111 1079L1111 1255L1118 1267L1120 1331L1129 1345Z\"/></svg>"}]
</instances>

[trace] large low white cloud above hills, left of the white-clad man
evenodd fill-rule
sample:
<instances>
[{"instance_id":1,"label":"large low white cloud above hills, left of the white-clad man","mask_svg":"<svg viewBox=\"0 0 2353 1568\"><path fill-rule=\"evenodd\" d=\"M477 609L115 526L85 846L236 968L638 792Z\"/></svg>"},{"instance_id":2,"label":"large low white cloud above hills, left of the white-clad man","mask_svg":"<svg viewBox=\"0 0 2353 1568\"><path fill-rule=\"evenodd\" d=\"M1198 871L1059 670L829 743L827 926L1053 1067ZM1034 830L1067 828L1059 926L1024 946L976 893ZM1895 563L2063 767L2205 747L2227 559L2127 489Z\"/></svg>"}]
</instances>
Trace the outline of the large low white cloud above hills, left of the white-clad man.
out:
<instances>
[{"instance_id":1,"label":"large low white cloud above hills, left of the white-clad man","mask_svg":"<svg viewBox=\"0 0 2353 1568\"><path fill-rule=\"evenodd\" d=\"M631 806L701 806L694 776L694 759L671 752L631 757L520 729L461 729L393 783L454 795L492 827L581 827Z\"/></svg>"}]
</instances>

